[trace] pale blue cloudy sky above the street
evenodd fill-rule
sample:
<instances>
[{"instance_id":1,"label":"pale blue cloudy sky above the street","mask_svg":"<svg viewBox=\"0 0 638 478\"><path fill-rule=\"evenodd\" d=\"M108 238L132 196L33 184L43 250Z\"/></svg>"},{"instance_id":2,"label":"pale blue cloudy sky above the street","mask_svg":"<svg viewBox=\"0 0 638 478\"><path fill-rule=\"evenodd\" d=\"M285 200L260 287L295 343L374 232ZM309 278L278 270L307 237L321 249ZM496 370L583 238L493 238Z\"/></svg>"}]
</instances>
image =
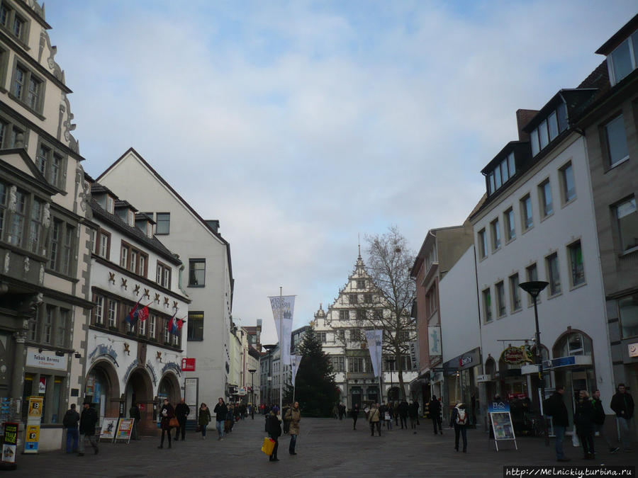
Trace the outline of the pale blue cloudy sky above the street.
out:
<instances>
[{"instance_id":1,"label":"pale blue cloudy sky above the street","mask_svg":"<svg viewBox=\"0 0 638 478\"><path fill-rule=\"evenodd\" d=\"M461 224L480 171L603 61L635 0L50 0L84 169L134 147L230 242L237 324L327 309L359 241L418 251ZM360 238L360 239L359 239Z\"/></svg>"}]
</instances>

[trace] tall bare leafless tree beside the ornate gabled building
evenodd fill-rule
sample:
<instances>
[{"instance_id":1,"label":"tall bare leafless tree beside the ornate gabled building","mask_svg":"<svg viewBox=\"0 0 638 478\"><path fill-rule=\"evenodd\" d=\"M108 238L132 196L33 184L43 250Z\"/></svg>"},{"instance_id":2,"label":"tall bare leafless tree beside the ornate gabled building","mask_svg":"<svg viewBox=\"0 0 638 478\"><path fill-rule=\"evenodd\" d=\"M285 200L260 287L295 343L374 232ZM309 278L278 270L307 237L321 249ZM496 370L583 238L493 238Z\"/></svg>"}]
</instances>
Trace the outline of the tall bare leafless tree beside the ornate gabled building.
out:
<instances>
[{"instance_id":1,"label":"tall bare leafless tree beside the ornate gabled building","mask_svg":"<svg viewBox=\"0 0 638 478\"><path fill-rule=\"evenodd\" d=\"M415 281L410 278L415 254L396 226L389 227L386 234L366 236L366 242L367 268L387 311L373 310L368 319L384 331L383 350L394 355L401 397L406 397L401 355L408 354L409 342L416 340L417 333L415 319L410 317L416 293Z\"/></svg>"}]
</instances>

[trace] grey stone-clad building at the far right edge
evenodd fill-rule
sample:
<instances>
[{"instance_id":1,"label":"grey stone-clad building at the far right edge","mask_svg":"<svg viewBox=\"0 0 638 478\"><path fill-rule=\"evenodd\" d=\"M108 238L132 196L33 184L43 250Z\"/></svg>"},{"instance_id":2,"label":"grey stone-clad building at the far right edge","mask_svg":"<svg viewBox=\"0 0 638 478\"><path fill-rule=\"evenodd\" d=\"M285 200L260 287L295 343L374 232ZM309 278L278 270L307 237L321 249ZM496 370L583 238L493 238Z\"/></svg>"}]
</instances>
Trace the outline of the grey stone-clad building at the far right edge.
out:
<instances>
[{"instance_id":1,"label":"grey stone-clad building at the far right edge","mask_svg":"<svg viewBox=\"0 0 638 478\"><path fill-rule=\"evenodd\" d=\"M638 15L596 53L587 144L615 385L638 390ZM638 426L634 421L634 427ZM634 430L635 431L635 430Z\"/></svg>"}]
</instances>

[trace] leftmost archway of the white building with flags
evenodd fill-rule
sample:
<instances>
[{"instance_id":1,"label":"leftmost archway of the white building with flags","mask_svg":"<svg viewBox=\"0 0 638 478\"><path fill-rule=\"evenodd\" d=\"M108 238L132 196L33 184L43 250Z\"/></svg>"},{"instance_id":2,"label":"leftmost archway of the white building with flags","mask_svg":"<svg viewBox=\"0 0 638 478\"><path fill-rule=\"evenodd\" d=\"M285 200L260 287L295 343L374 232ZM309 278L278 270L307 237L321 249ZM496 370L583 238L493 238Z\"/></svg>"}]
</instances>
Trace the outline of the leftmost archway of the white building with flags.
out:
<instances>
[{"instance_id":1,"label":"leftmost archway of the white building with flags","mask_svg":"<svg viewBox=\"0 0 638 478\"><path fill-rule=\"evenodd\" d=\"M120 380L113 364L96 360L86 374L84 397L90 399L98 413L99 423L105 416L117 417L120 413Z\"/></svg>"}]
</instances>

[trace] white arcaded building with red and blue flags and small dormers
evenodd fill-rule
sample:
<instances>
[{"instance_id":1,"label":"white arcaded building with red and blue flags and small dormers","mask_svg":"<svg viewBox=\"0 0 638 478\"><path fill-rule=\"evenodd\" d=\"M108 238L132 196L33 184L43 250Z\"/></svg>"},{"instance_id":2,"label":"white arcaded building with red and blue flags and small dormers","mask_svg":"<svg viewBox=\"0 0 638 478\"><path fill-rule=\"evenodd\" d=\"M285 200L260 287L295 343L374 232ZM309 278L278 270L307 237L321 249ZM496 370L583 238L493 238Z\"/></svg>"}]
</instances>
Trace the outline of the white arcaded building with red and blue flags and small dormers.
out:
<instances>
[{"instance_id":1,"label":"white arcaded building with red and blue flags and small dormers","mask_svg":"<svg viewBox=\"0 0 638 478\"><path fill-rule=\"evenodd\" d=\"M91 300L95 303L86 340L84 396L100 421L129 416L140 408L140 432L157 433L157 410L164 398L177 404L184 387L186 319L190 300L179 290L181 261L153 234L150 217L91 183L96 229L91 241ZM133 326L125 317L137 309L148 317Z\"/></svg>"}]
</instances>

